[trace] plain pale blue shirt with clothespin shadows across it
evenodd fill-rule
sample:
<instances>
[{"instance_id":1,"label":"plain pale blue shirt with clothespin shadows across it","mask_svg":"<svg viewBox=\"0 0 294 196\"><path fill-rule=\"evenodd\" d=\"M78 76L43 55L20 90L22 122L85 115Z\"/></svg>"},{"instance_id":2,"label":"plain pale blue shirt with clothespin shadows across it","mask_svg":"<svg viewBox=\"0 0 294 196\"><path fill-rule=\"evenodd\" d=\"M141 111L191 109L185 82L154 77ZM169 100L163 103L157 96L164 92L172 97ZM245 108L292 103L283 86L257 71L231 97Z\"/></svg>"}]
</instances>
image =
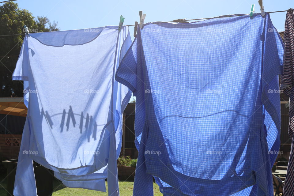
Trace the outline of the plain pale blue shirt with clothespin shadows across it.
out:
<instances>
[{"instance_id":1,"label":"plain pale blue shirt with clothespin shadows across it","mask_svg":"<svg viewBox=\"0 0 294 196\"><path fill-rule=\"evenodd\" d=\"M118 26L26 34L13 72L24 80L28 115L18 158L15 196L34 196L33 161L67 187L119 195L116 160L122 112L131 91L114 79L130 47Z\"/></svg>"}]
</instances>

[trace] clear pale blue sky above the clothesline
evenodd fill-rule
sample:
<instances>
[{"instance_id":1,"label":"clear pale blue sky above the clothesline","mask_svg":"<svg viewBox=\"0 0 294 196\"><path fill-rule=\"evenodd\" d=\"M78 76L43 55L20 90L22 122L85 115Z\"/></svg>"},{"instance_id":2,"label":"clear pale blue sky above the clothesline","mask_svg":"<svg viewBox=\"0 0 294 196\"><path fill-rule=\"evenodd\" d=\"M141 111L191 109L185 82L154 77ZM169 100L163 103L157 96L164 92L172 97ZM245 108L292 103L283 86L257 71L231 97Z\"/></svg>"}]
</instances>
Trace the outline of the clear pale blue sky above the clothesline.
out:
<instances>
[{"instance_id":1,"label":"clear pale blue sky above the clothesline","mask_svg":"<svg viewBox=\"0 0 294 196\"><path fill-rule=\"evenodd\" d=\"M125 17L124 25L134 25L139 19L140 10L146 13L146 23L248 14L251 4L255 4L255 13L260 12L257 0L18 0L15 2L21 9L29 10L34 17L46 16L51 22L57 21L61 30L118 25L120 15ZM263 4L265 11L269 12L294 8L293 0L264 0ZM286 12L270 15L278 31L285 29L285 16ZM131 35L133 32L134 28L131 27Z\"/></svg>"}]
</instances>

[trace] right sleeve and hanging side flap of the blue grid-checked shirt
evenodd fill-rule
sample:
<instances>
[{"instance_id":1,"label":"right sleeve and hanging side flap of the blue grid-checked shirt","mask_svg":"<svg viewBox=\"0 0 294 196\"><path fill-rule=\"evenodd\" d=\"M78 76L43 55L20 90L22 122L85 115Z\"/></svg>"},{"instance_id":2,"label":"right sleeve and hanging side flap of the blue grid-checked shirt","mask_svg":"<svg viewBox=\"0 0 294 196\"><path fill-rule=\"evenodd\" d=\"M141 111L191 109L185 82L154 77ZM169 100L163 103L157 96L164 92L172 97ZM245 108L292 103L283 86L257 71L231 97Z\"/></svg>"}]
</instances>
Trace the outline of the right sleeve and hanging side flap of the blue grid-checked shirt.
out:
<instances>
[{"instance_id":1,"label":"right sleeve and hanging side flap of the blue grid-checked shirt","mask_svg":"<svg viewBox=\"0 0 294 196\"><path fill-rule=\"evenodd\" d=\"M271 168L277 158L280 149L281 134L281 102L279 88L279 74L283 70L284 45L277 29L273 26L269 14L266 15L263 58L262 58L262 104L263 104L263 130L266 136L266 143L262 142L266 168L266 175L263 179L257 178L258 190L273 192L273 179ZM266 152L268 151L268 152ZM267 181L267 187L266 187ZM257 192L258 193L258 192ZM258 194L259 195L259 194Z\"/></svg>"}]
</instances>

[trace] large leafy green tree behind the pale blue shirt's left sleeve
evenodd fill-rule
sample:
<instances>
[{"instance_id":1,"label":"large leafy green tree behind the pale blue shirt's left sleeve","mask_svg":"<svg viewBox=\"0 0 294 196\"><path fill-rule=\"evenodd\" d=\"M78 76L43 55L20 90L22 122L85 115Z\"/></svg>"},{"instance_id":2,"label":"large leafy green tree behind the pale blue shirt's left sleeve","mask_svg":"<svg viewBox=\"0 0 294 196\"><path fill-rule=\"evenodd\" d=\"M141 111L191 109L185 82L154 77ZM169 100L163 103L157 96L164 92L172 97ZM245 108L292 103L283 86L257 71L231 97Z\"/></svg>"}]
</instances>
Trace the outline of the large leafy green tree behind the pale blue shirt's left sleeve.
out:
<instances>
[{"instance_id":1,"label":"large leafy green tree behind the pale blue shirt's left sleeve","mask_svg":"<svg viewBox=\"0 0 294 196\"><path fill-rule=\"evenodd\" d=\"M23 96L22 81L12 81L12 73L20 53L24 25L31 32L58 31L57 22L50 23L47 17L35 19L28 10L19 9L17 3L7 2L0 6L0 97Z\"/></svg>"}]
</instances>

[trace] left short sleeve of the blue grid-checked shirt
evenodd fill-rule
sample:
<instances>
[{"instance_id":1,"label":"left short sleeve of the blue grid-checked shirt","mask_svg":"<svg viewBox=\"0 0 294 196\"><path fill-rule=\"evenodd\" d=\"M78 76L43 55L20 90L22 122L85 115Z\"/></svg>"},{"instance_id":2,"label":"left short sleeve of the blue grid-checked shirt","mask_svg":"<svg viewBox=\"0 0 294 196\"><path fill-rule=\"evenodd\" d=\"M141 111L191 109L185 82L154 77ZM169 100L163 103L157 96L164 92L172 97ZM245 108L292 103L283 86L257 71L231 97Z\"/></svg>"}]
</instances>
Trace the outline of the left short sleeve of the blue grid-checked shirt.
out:
<instances>
[{"instance_id":1,"label":"left short sleeve of the blue grid-checked shirt","mask_svg":"<svg viewBox=\"0 0 294 196\"><path fill-rule=\"evenodd\" d=\"M126 52L116 71L115 80L127 86L136 96L138 56L137 38L135 38L129 50Z\"/></svg>"}]
</instances>

